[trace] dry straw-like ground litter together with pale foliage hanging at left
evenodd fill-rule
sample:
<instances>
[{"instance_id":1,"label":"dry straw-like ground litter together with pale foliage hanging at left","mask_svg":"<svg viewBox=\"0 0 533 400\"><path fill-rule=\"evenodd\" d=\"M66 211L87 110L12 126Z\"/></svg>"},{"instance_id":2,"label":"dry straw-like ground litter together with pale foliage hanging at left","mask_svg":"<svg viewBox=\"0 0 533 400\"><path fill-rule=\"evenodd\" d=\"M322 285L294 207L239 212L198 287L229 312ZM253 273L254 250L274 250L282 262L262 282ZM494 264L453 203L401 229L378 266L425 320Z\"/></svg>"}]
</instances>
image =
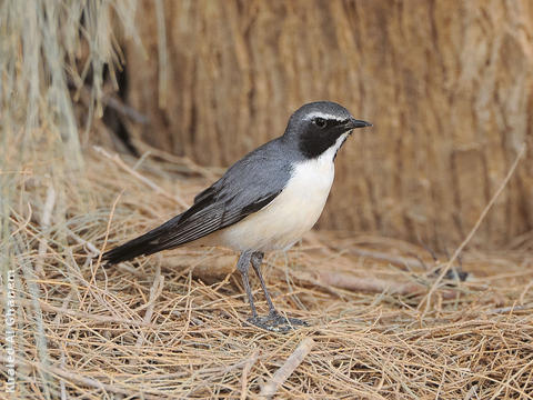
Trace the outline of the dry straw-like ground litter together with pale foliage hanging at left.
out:
<instances>
[{"instance_id":1,"label":"dry straw-like ground litter together with pale foliage hanging at left","mask_svg":"<svg viewBox=\"0 0 533 400\"><path fill-rule=\"evenodd\" d=\"M107 22L134 38L134 1L43 2L36 14L21 4L0 7L11 56L0 58L0 308L4 316L13 271L13 398L533 398L531 233L492 251L453 253L457 242L435 260L375 232L313 231L265 260L279 310L311 324L288 334L245 324L227 250L182 248L104 269L102 249L181 211L220 170L141 141L140 158L118 156L99 120L86 124L99 113L92 100L105 104L99 62L120 56ZM40 58L56 50L64 58ZM72 87L89 71L94 88ZM72 107L77 93L82 106ZM452 267L469 279L447 274ZM0 362L4 381L6 352Z\"/></svg>"}]
</instances>

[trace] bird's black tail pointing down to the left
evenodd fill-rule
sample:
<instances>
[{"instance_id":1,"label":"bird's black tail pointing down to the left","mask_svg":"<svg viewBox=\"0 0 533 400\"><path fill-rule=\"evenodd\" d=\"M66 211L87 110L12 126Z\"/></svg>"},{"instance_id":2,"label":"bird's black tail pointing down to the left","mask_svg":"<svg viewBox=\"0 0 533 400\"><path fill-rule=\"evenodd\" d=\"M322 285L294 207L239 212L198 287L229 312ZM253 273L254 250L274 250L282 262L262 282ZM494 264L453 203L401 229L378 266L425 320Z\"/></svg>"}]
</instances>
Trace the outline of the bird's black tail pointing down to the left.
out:
<instances>
[{"instance_id":1,"label":"bird's black tail pointing down to the left","mask_svg":"<svg viewBox=\"0 0 533 400\"><path fill-rule=\"evenodd\" d=\"M139 238L132 239L122 246L104 252L102 260L107 261L107 264L115 264L122 261L132 260L139 256L149 256L169 249L170 247L162 244L162 242L164 242L171 228L175 227L180 217L181 216L178 216Z\"/></svg>"}]
</instances>

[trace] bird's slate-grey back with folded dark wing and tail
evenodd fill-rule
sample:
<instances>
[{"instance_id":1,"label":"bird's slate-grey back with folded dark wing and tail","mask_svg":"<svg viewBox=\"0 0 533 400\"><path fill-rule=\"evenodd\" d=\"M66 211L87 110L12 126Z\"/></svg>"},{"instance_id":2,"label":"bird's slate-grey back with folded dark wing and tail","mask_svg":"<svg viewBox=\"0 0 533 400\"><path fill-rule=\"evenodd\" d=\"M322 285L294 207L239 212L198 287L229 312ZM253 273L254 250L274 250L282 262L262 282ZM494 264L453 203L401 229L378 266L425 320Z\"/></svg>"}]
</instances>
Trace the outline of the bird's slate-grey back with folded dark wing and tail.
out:
<instances>
[{"instance_id":1,"label":"bird's slate-grey back with folded dark wing and tail","mask_svg":"<svg viewBox=\"0 0 533 400\"><path fill-rule=\"evenodd\" d=\"M261 210L283 190L291 174L291 163L282 157L282 148L276 144L272 141L249 153L200 192L185 212L105 252L102 259L117 263L172 249Z\"/></svg>"}]
</instances>

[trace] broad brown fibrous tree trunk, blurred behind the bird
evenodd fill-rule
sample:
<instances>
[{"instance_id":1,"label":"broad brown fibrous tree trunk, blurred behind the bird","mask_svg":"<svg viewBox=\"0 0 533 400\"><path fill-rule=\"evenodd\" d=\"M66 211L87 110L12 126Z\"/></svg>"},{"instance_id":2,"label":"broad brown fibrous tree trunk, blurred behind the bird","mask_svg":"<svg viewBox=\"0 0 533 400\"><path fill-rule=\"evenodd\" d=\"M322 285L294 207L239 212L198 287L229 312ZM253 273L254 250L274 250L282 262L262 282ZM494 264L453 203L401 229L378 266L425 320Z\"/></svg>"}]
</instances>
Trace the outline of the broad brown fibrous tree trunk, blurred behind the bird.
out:
<instances>
[{"instance_id":1,"label":"broad brown fibrous tree trunk, blurred behind the bird","mask_svg":"<svg viewBox=\"0 0 533 400\"><path fill-rule=\"evenodd\" d=\"M229 166L328 99L374 123L336 160L320 227L434 249L461 241L532 147L530 1L141 1L127 41L129 132ZM533 227L529 150L474 242Z\"/></svg>"}]
</instances>

